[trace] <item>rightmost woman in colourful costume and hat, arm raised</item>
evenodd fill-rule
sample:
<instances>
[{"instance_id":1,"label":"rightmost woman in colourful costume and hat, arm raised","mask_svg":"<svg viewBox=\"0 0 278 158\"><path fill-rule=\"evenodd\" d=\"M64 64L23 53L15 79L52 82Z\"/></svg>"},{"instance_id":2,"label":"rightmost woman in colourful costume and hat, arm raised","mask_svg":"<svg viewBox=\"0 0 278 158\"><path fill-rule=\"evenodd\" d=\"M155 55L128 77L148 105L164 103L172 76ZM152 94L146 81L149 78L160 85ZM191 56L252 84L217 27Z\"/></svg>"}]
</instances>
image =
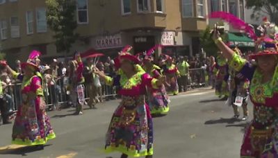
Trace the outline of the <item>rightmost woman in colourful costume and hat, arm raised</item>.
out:
<instances>
[{"instance_id":1,"label":"rightmost woman in colourful costume and hat, arm raised","mask_svg":"<svg viewBox=\"0 0 278 158\"><path fill-rule=\"evenodd\" d=\"M247 128L240 157L278 157L278 44L265 37L256 42L252 65L229 48L214 28L213 39L229 60L229 66L249 79L250 98L254 104L254 119Z\"/></svg>"}]
</instances>

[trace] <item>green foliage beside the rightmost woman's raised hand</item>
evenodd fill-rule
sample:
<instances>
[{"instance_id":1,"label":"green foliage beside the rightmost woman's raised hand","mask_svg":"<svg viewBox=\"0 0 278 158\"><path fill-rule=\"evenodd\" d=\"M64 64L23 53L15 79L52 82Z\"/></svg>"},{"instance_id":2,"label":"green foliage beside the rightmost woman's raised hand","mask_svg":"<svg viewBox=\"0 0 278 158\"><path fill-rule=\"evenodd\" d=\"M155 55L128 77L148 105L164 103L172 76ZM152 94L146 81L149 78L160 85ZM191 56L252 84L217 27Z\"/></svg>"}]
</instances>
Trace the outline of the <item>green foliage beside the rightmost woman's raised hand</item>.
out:
<instances>
[{"instance_id":1,"label":"green foliage beside the rightmost woman's raised hand","mask_svg":"<svg viewBox=\"0 0 278 158\"><path fill-rule=\"evenodd\" d=\"M205 30L201 31L199 40L207 56L211 56L211 55L216 56L218 52L218 47L215 45L212 39L211 29L213 28L207 26ZM222 39L223 41L226 41L227 37L222 35Z\"/></svg>"}]
</instances>

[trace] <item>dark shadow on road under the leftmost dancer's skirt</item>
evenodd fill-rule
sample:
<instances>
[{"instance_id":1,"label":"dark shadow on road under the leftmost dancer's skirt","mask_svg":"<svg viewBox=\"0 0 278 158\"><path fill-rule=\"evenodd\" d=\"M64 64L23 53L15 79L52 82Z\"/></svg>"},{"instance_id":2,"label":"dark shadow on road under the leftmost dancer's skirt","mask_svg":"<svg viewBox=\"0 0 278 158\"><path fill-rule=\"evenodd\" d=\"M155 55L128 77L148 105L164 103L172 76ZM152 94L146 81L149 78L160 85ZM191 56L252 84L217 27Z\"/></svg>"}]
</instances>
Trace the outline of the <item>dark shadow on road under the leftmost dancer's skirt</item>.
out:
<instances>
[{"instance_id":1,"label":"dark shadow on road under the leftmost dancer's skirt","mask_svg":"<svg viewBox=\"0 0 278 158\"><path fill-rule=\"evenodd\" d=\"M44 145L44 148L51 145ZM43 149L35 148L35 146L25 146L22 148L6 148L0 150L0 155L22 155L27 156L28 153L40 151Z\"/></svg>"}]
</instances>

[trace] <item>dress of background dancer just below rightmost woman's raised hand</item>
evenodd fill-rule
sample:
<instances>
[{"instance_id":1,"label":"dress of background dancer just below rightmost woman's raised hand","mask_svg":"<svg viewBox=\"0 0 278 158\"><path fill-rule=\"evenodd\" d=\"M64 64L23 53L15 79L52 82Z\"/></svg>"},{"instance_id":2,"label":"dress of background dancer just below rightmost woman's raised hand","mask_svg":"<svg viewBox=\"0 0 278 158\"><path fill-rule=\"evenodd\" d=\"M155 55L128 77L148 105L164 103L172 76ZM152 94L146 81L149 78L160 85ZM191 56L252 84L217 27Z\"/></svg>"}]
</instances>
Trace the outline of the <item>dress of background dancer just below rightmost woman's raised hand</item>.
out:
<instances>
[{"instance_id":1,"label":"dress of background dancer just below rightmost woman's raised hand","mask_svg":"<svg viewBox=\"0 0 278 158\"><path fill-rule=\"evenodd\" d=\"M215 64L214 72L215 78L215 94L217 96L229 96L227 80L229 79L229 67L227 60L218 58L218 62Z\"/></svg>"}]
</instances>

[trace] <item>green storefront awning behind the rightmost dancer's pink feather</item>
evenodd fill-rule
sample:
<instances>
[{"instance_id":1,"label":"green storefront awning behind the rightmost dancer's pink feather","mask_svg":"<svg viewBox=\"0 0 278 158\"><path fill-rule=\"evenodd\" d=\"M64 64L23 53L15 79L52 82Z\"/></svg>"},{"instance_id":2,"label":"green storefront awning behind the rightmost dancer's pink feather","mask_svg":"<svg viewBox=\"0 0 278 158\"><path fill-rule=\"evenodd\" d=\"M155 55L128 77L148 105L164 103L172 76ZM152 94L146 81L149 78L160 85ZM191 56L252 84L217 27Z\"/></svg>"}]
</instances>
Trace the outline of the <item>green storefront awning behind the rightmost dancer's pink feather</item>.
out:
<instances>
[{"instance_id":1,"label":"green storefront awning behind the rightmost dancer's pink feather","mask_svg":"<svg viewBox=\"0 0 278 158\"><path fill-rule=\"evenodd\" d=\"M227 33L228 42L230 46L238 47L254 47L255 43L252 39L245 35L235 35L234 33Z\"/></svg>"}]
</instances>

